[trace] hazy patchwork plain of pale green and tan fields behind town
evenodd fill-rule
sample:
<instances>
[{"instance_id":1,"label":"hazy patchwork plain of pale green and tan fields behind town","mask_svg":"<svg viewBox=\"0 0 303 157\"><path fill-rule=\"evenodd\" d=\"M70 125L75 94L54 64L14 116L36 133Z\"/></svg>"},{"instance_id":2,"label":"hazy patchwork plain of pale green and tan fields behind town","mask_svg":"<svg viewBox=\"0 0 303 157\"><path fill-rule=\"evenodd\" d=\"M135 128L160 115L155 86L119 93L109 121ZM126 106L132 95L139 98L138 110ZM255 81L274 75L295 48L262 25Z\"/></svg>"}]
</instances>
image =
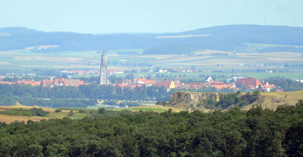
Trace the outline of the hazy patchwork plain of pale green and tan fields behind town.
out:
<instances>
[{"instance_id":1,"label":"hazy patchwork plain of pale green and tan fields behind town","mask_svg":"<svg viewBox=\"0 0 303 157\"><path fill-rule=\"evenodd\" d=\"M245 43L249 47L260 49L270 46L285 46L285 45L270 45L270 44L252 44ZM213 73L213 70L245 70L255 71L257 68L266 70L278 70L280 73L254 73L254 72L241 72L240 75L249 76L253 78L266 78L266 77L285 77L290 79L298 79L302 77L302 67L284 68L285 63L303 63L301 53L239 53L228 51L215 51L215 50L199 50L192 52L191 55L118 55L118 52L138 52L142 53L144 49L121 49L109 50L106 54L108 56L108 69L110 70L129 70L129 69L142 69L150 67L138 66L138 63L150 63L154 68L177 68L177 69L190 69L195 66L198 73L163 73L170 77L180 74L186 75L184 79L198 78L199 74L203 75L225 75L229 78L232 73ZM102 53L97 51L67 51L56 53L33 53L30 50L11 50L0 52L0 69L65 69L65 70L98 70L98 62L101 60ZM214 56L215 53L227 53L228 55ZM132 65L125 66L119 60L128 60ZM114 65L113 62L118 62ZM133 66L137 63L137 66ZM270 63L270 66L251 66L264 63ZM273 64L275 63L275 64ZM219 65L218 65L219 64ZM242 66L239 66L242 65ZM281 71L288 72L281 72ZM143 77L151 75L155 78L155 73L134 73L136 77ZM161 73L162 74L162 73ZM160 75L161 75L160 74ZM234 73L234 76L239 74ZM127 74L113 74L115 76L125 76ZM97 75L75 75L76 77L91 77ZM225 78L224 78L225 79Z\"/></svg>"}]
</instances>

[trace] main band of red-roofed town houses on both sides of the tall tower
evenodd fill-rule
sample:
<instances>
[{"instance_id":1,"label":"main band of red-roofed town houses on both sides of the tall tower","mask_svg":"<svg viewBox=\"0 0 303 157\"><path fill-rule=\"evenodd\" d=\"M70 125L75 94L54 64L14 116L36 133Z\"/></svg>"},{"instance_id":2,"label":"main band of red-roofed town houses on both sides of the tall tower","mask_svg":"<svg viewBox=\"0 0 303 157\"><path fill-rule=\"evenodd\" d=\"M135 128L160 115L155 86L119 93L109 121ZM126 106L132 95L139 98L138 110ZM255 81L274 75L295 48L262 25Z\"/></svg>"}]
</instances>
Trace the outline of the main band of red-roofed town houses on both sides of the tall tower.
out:
<instances>
[{"instance_id":1,"label":"main band of red-roofed town houses on both sides of the tall tower","mask_svg":"<svg viewBox=\"0 0 303 157\"><path fill-rule=\"evenodd\" d=\"M19 85L43 85L47 87L54 87L54 86L75 86L78 87L79 85L88 85L88 83L84 83L80 79L64 79L61 77L56 78L55 80L48 80L45 78L43 81L25 81L20 80L15 82L3 82L3 78L0 78L0 84L19 84ZM134 89L136 87L141 87L142 85L149 87L152 85L161 87L162 85L166 88L167 91L169 91L171 88L203 88L203 87L214 87L217 91L221 91L223 88L230 88L232 90L265 90L265 91L271 91L272 89L275 89L275 85L269 85L268 82L265 81L259 81L256 78L238 78L236 82L234 83L224 83L219 81L213 81L211 76L206 76L203 82L190 82L188 84L185 84L183 82L180 82L180 79L178 76L175 77L175 80L153 80L153 79L146 79L146 78L135 78L133 80L122 80L117 81L113 86L120 86L122 89L124 87L129 87L131 89ZM283 91L283 90L277 90L277 91Z\"/></svg>"}]
</instances>

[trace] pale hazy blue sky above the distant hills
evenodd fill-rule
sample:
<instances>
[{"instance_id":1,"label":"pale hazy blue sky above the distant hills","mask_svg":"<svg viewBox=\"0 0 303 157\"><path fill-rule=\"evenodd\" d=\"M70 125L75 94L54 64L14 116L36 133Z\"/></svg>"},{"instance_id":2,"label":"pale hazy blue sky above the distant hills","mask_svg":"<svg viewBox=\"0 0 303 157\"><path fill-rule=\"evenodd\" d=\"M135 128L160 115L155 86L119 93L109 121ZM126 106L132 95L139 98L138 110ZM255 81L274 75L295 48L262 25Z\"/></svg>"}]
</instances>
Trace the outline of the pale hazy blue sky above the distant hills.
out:
<instances>
[{"instance_id":1,"label":"pale hazy blue sky above the distant hills","mask_svg":"<svg viewBox=\"0 0 303 157\"><path fill-rule=\"evenodd\" d=\"M78 33L180 32L226 24L303 26L302 0L5 0L0 27Z\"/></svg>"}]
</instances>

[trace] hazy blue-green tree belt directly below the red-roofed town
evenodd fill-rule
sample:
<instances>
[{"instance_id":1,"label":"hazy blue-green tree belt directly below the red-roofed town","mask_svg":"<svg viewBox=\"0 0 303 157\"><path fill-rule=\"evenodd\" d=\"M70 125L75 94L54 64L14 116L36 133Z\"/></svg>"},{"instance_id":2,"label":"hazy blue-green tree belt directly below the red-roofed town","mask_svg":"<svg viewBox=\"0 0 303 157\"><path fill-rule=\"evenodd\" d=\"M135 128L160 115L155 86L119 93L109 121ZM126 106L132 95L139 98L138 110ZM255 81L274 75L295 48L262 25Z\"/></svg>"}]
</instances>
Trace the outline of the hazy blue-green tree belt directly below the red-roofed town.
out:
<instances>
[{"instance_id":1,"label":"hazy blue-green tree belt directly below the red-roofed town","mask_svg":"<svg viewBox=\"0 0 303 157\"><path fill-rule=\"evenodd\" d=\"M164 86L136 87L114 87L111 85L97 85L90 83L89 85L80 85L78 88L74 86L54 86L44 87L43 85L9 85L0 84L0 105L12 105L15 101L26 106L36 104L38 106L50 107L87 107L95 105L97 99L109 100L132 100L132 101L168 101L171 94L177 90L192 92L218 92L214 87L203 87L201 89L188 88L177 89L172 88L167 91ZM220 92L230 92L230 89L224 88ZM37 98L50 98L43 100ZM58 99L61 98L62 100ZM68 99L67 99L68 98ZM83 100L91 99L91 100ZM59 102L61 101L61 102ZM66 105L66 106L64 106Z\"/></svg>"}]
</instances>

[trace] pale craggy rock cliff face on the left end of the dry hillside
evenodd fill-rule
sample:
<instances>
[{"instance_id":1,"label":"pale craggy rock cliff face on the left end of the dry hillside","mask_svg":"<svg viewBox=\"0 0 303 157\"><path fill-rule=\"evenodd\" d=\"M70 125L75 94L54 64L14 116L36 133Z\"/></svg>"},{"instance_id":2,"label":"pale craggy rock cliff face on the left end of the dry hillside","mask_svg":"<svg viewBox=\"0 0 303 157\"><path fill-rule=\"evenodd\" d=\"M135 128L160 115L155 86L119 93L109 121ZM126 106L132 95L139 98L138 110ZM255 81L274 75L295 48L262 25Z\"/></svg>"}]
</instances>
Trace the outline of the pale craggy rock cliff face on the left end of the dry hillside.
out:
<instances>
[{"instance_id":1,"label":"pale craggy rock cliff face on the left end of the dry hillside","mask_svg":"<svg viewBox=\"0 0 303 157\"><path fill-rule=\"evenodd\" d=\"M193 104L196 105L199 102L202 104L205 100L212 99L214 101L219 101L219 99L225 93L199 93L199 92L186 92L186 91L176 91L171 95L168 105L176 105L179 103Z\"/></svg>"}]
</instances>

